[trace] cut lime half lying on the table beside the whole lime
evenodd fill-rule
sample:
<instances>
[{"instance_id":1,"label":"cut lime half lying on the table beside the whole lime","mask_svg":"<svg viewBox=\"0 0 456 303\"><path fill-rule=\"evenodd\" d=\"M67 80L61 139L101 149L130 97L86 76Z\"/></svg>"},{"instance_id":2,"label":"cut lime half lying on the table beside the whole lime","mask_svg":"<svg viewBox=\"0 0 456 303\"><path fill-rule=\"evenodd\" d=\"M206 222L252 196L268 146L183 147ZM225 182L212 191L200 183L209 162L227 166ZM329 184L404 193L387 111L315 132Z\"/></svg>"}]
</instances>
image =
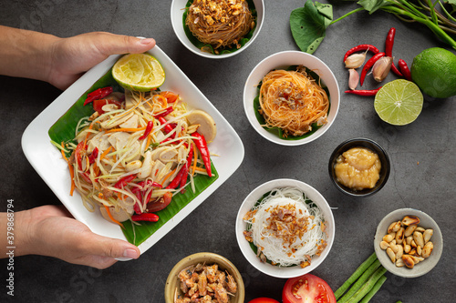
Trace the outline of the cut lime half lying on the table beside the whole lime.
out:
<instances>
[{"instance_id":1,"label":"cut lime half lying on the table beside the whole lime","mask_svg":"<svg viewBox=\"0 0 456 303\"><path fill-rule=\"evenodd\" d=\"M383 121L393 126L405 126L420 116L423 95L413 82L394 80L378 90L374 107Z\"/></svg>"}]
</instances>

